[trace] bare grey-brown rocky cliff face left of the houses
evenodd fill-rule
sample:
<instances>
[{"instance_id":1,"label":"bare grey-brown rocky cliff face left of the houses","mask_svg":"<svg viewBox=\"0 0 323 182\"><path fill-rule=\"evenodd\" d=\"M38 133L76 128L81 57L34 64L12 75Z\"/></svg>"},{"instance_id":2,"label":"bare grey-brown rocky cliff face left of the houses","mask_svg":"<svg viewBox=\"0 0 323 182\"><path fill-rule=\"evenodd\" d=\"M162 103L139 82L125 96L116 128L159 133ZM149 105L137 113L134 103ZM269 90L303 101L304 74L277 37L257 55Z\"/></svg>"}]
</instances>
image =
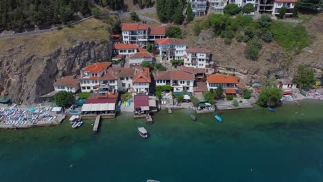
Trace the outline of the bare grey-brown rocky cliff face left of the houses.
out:
<instances>
[{"instance_id":1,"label":"bare grey-brown rocky cliff face left of the houses","mask_svg":"<svg viewBox=\"0 0 323 182\"><path fill-rule=\"evenodd\" d=\"M53 90L61 77L79 74L84 66L106 61L112 54L112 43L78 41L72 47L58 47L50 54L26 54L20 44L0 54L0 93L18 103L38 101L39 96Z\"/></svg>"}]
</instances>

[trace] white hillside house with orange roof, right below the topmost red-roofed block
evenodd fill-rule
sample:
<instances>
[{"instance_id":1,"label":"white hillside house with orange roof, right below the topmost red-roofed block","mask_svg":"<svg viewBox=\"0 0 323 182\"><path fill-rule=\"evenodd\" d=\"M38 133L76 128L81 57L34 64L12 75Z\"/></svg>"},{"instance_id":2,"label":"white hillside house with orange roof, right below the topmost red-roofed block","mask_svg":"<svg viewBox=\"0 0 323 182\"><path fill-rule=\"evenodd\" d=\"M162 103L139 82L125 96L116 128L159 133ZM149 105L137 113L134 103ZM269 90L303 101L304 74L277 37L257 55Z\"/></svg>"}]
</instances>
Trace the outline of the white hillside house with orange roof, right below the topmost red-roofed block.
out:
<instances>
[{"instance_id":1,"label":"white hillside house with orange roof, right below the topmost red-roofed block","mask_svg":"<svg viewBox=\"0 0 323 182\"><path fill-rule=\"evenodd\" d=\"M184 59L186 54L186 43L182 39L165 38L156 39L155 44L159 50L161 61L170 61L171 59Z\"/></svg>"}]
</instances>

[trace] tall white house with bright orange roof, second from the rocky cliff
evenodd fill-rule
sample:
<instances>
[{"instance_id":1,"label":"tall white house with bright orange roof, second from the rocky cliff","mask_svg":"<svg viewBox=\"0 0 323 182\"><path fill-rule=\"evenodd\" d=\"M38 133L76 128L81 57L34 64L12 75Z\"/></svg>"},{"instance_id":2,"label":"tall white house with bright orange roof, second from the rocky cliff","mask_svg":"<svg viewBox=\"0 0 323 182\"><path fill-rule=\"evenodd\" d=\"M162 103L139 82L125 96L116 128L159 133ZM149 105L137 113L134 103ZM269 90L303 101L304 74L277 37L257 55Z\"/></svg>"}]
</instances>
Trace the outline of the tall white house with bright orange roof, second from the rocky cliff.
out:
<instances>
[{"instance_id":1,"label":"tall white house with bright orange roof, second from the rocky cliff","mask_svg":"<svg viewBox=\"0 0 323 182\"><path fill-rule=\"evenodd\" d=\"M81 77L78 79L81 85L81 92L97 90L99 87L99 78L106 73L110 65L110 62L100 62L81 69Z\"/></svg>"}]
</instances>

